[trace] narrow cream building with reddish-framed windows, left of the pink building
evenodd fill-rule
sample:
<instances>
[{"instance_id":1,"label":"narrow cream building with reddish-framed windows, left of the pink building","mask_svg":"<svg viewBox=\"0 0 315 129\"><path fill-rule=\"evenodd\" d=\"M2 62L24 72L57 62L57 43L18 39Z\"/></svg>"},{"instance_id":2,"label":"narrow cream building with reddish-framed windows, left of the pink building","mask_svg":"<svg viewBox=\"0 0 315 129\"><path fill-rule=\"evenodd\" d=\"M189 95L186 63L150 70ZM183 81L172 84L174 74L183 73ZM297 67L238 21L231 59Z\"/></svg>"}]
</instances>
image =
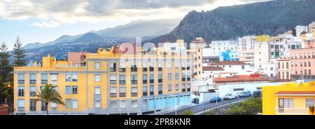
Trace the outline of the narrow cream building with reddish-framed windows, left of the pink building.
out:
<instances>
[{"instance_id":1,"label":"narrow cream building with reddish-framed windows, left of the pink building","mask_svg":"<svg viewBox=\"0 0 315 129\"><path fill-rule=\"evenodd\" d=\"M281 81L290 81L290 57L280 57L276 60L278 67L278 79Z\"/></svg>"}]
</instances>

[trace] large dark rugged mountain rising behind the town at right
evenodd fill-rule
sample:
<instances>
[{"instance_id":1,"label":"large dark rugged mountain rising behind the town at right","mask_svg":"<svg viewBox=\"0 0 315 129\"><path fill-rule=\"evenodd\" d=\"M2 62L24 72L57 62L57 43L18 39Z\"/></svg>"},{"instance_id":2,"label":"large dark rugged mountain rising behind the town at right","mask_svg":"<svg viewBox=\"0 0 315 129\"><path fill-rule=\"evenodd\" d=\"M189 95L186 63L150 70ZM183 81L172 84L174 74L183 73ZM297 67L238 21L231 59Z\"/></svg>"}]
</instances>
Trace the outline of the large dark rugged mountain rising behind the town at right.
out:
<instances>
[{"instance_id":1,"label":"large dark rugged mountain rising behind the town at right","mask_svg":"<svg viewBox=\"0 0 315 129\"><path fill-rule=\"evenodd\" d=\"M269 34L277 35L296 25L315 21L314 0L278 0L218 7L212 11L191 11L169 34L147 42L190 42L202 37L207 42L227 40L236 36Z\"/></svg>"}]
</instances>

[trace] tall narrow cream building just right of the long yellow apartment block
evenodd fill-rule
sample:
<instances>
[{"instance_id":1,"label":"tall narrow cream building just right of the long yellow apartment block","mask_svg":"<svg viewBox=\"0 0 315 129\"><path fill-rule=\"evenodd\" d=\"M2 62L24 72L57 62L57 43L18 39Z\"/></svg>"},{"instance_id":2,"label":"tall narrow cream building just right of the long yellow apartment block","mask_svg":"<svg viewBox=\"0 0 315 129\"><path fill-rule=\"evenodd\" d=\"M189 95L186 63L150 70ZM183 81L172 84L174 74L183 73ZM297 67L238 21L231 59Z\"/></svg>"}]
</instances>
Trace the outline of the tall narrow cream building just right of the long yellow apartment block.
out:
<instances>
[{"instance_id":1,"label":"tall narrow cream building just right of the long yellow apartment block","mask_svg":"<svg viewBox=\"0 0 315 129\"><path fill-rule=\"evenodd\" d=\"M202 73L202 48L206 46L206 41L201 37L197 37L196 40L193 40L190 43L191 72L192 74L197 74L197 78L200 77L200 74Z\"/></svg>"}]
</instances>

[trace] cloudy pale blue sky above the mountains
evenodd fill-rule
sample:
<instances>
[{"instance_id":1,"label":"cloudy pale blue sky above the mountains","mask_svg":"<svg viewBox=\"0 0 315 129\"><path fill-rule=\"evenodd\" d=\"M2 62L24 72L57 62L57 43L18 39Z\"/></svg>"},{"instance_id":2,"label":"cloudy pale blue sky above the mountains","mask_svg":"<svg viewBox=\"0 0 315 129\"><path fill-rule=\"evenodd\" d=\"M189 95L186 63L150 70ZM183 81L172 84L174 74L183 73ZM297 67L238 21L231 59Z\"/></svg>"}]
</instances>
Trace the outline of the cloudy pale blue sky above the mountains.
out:
<instances>
[{"instance_id":1,"label":"cloudy pale blue sky above the mountains","mask_svg":"<svg viewBox=\"0 0 315 129\"><path fill-rule=\"evenodd\" d=\"M132 20L183 18L193 10L258 1L268 0L0 0L0 42L12 50L17 36L23 45L45 43Z\"/></svg>"}]
</instances>

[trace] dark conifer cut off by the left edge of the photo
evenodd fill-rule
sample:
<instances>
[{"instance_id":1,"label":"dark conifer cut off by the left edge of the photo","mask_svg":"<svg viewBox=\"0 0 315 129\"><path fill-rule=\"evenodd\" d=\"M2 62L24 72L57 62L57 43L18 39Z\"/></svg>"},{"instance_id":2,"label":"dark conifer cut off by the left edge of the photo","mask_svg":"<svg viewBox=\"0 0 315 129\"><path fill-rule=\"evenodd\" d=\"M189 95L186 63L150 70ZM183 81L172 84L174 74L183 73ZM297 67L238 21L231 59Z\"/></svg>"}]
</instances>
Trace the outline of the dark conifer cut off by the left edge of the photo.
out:
<instances>
[{"instance_id":1,"label":"dark conifer cut off by the left edge of the photo","mask_svg":"<svg viewBox=\"0 0 315 129\"><path fill-rule=\"evenodd\" d=\"M12 67L10 66L10 55L8 53L8 48L6 47L6 43L2 43L0 46L0 76L2 81L7 82L8 75L12 71Z\"/></svg>"}]
</instances>

